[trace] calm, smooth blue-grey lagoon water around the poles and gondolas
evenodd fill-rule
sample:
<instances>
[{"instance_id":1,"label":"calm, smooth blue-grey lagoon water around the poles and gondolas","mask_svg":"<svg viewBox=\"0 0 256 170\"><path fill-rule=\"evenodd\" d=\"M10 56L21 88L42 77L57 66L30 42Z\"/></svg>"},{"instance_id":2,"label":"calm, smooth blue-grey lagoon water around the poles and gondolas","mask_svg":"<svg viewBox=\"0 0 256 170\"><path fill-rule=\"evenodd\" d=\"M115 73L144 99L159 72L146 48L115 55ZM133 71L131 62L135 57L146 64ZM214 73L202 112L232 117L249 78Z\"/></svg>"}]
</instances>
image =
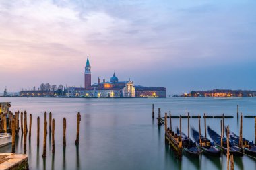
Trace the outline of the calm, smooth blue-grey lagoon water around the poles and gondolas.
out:
<instances>
[{"instance_id":1,"label":"calm, smooth blue-grey lagoon water around the poles and gondolas","mask_svg":"<svg viewBox=\"0 0 256 170\"><path fill-rule=\"evenodd\" d=\"M220 158L201 155L198 159L183 155L181 161L164 142L164 126L158 128L152 120L152 103L155 112L172 111L173 115L203 114L234 115L225 125L239 134L236 105L244 115L256 115L256 98L166 98L166 99L61 99L61 98L14 98L11 111L27 110L32 114L32 140L27 146L30 169L226 169L226 155ZM55 118L55 155L51 153L51 138L47 138L46 159L42 158L44 111ZM76 114L81 112L79 147L75 146ZM40 147L36 146L36 118L40 116ZM162 115L163 116L163 115ZM63 148L63 118L67 118L67 146ZM49 115L47 116L49 119ZM243 119L243 136L254 139L254 119ZM183 132L187 133L187 119L183 119ZM198 128L198 120L191 119ZM179 119L172 119L173 127ZM203 121L201 122L203 126ZM220 132L220 119L207 119L207 125ZM202 129L204 134L204 129ZM22 137L18 138L16 152L23 152ZM0 148L11 152L11 145ZM234 157L235 169L256 169L256 159Z\"/></svg>"}]
</instances>

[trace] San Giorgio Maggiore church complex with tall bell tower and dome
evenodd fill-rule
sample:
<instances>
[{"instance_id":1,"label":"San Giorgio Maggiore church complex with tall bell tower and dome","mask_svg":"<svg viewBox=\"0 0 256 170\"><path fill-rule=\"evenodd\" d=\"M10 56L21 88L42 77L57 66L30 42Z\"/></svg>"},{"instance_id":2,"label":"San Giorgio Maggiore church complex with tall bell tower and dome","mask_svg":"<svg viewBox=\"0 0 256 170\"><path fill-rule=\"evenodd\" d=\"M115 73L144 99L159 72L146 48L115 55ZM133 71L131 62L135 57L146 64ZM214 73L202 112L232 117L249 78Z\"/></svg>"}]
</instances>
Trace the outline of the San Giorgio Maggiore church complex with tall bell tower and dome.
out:
<instances>
[{"instance_id":1,"label":"San Giorgio Maggiore church complex with tall bell tower and dome","mask_svg":"<svg viewBox=\"0 0 256 170\"><path fill-rule=\"evenodd\" d=\"M135 86L133 81L119 81L115 72L109 81L104 78L102 82L98 77L98 82L92 84L92 73L87 56L84 71L84 88L68 87L67 96L69 97L166 97L164 87L143 87ZM137 91L136 91L137 89ZM137 93L137 95L136 95Z\"/></svg>"}]
</instances>

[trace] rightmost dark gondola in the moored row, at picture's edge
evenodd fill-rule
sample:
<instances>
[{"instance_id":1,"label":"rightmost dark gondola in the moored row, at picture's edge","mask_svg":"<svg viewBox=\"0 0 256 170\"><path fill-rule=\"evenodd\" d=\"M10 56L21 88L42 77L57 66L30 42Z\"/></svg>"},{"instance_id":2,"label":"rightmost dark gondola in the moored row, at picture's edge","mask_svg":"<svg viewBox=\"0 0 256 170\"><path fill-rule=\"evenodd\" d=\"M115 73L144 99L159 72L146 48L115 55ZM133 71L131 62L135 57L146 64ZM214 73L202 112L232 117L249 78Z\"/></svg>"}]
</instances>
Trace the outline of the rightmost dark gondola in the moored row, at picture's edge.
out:
<instances>
[{"instance_id":1,"label":"rightmost dark gondola in the moored row, at picture's edge","mask_svg":"<svg viewBox=\"0 0 256 170\"><path fill-rule=\"evenodd\" d=\"M227 134L227 129L226 129L226 134ZM239 146L239 136L234 134L234 132L229 130L229 137L232 140L234 146ZM246 154L248 155L253 155L256 156L256 146L252 142L249 142L249 140L242 138L243 140L243 150L245 151ZM241 148L241 147L240 147Z\"/></svg>"}]
</instances>

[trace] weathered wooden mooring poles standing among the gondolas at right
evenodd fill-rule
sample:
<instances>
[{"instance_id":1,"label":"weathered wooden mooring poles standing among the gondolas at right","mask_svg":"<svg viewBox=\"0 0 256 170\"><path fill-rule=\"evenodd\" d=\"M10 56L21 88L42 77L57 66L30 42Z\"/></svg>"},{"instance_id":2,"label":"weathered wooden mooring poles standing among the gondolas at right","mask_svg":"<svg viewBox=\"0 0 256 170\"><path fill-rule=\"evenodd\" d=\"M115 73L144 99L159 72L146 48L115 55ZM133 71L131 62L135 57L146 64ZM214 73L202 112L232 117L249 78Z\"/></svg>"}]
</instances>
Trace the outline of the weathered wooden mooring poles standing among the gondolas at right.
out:
<instances>
[{"instance_id":1,"label":"weathered wooden mooring poles standing among the gondolas at right","mask_svg":"<svg viewBox=\"0 0 256 170\"><path fill-rule=\"evenodd\" d=\"M237 105L237 111L238 111L238 105ZM239 113L237 112L237 115L239 118ZM191 118L191 116L189 116L189 113L187 114L187 116L183 116L183 118L187 117L188 119L188 138L189 138L189 118ZM154 104L152 105L152 118L154 118ZM158 126L161 126L162 124L164 124L164 129L165 129L165 132L168 130L167 128L167 113L165 113L165 116L164 116L164 120L161 118L161 110L160 108L158 108ZM170 132L172 132L172 116L171 116L171 112L169 112L169 118L170 118ZM200 139L200 142L201 142L201 123L200 123L200 118L201 116L198 115L198 118L199 118L199 139ZM205 113L203 114L203 118L204 118L204 128L205 128L205 138L207 137L207 132L206 132L206 118L207 116L205 115ZM224 114L222 114L222 120L220 120L220 129L221 129L221 148L223 147L223 138L224 138ZM179 121L180 121L180 136L179 136L179 139L174 140L174 142L177 142L177 148L181 148L181 115L179 116ZM226 132L226 136L227 136L227 169L229 170L229 167L231 170L234 170L234 157L233 155L230 155L230 147L229 147L229 126L227 126L227 132ZM169 139L170 140L170 139ZM255 140L256 141L256 117L255 117ZM240 115L240 133L239 133L239 146L241 148L243 148L243 114L241 113ZM176 148L176 150L177 150ZM229 165L230 163L230 165Z\"/></svg>"}]
</instances>

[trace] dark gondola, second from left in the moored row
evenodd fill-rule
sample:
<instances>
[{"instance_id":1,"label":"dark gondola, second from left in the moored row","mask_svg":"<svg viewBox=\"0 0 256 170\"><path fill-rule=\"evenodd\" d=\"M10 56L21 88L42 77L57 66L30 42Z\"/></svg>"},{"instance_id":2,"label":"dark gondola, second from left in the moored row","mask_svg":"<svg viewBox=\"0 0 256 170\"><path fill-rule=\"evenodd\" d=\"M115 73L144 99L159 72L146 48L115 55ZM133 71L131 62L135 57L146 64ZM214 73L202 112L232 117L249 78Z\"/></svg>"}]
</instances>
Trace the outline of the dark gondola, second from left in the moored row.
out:
<instances>
[{"instance_id":1,"label":"dark gondola, second from left in the moored row","mask_svg":"<svg viewBox=\"0 0 256 170\"><path fill-rule=\"evenodd\" d=\"M195 144L197 145L197 148L199 148L203 153L207 155L212 155L216 157L220 157L221 150L217 146L214 145L214 143L210 142L208 138L205 138L203 135L201 135L201 144L199 139L199 132L195 130L195 128L192 129L192 135L195 140Z\"/></svg>"}]
</instances>

